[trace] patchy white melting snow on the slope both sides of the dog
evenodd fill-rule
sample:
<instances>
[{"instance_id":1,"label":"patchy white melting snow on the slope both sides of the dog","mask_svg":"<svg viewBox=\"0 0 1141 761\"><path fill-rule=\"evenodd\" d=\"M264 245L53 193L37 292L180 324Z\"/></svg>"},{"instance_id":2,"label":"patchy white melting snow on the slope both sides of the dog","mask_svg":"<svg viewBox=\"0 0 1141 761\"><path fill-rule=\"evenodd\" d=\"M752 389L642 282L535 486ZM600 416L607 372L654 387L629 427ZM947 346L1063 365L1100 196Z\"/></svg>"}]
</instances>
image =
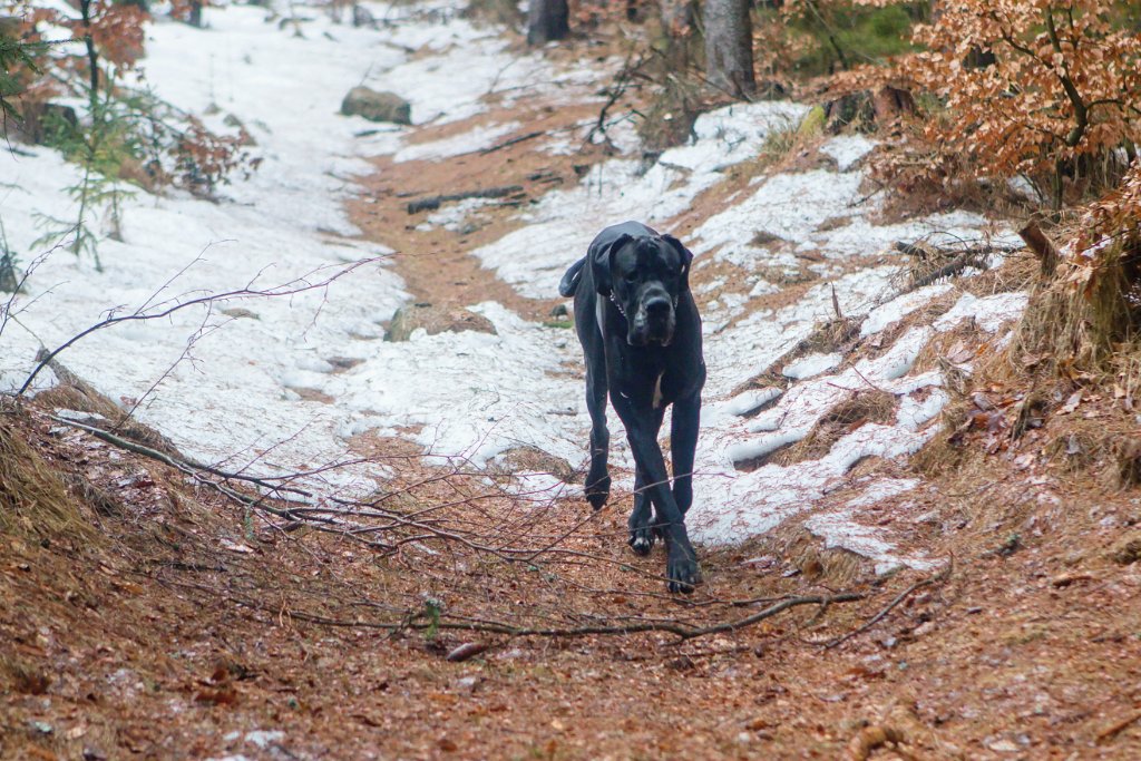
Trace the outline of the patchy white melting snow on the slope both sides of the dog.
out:
<instances>
[{"instance_id":1,"label":"patchy white melting snow on the slope both sides of the dog","mask_svg":"<svg viewBox=\"0 0 1141 761\"><path fill-rule=\"evenodd\" d=\"M146 83L196 113L217 106L211 126L235 114L257 139L264 163L249 179L225 188L217 204L139 192L124 210L124 240L100 248L102 274L66 251L49 256L16 305L23 309L18 322L0 334L0 387L23 382L41 343L58 345L106 310L133 309L160 290L197 296L241 288L251 278L272 285L382 256L383 245L358 237L342 209L355 189L353 176L370 169L365 156L443 160L493 145L519 127L482 123L437 143L410 145L403 137L414 127L339 116L340 98L351 87L365 82L394 90L410 99L416 124L443 123L480 113L486 107L482 96L493 90L505 98L524 92L568 103L597 98L597 84L613 65L591 62L560 71L537 54L518 57L494 31L472 27L445 6L428 14L428 6L371 3L377 18L390 22L375 30L293 8L297 24L282 25L264 8L230 6L209 8L205 30L173 23L149 29ZM585 250L599 227L622 219L669 225L719 183L727 167L754 156L769 130L794 124L804 112L795 104L760 103L705 114L695 126L694 144L665 152L645 172L625 156L596 165L580 185L555 191L520 212L526 225L476 256L520 293L549 297L570 264L568 252ZM549 152L566 147L557 139L541 146ZM688 236L695 269L730 265L742 281L705 311L710 382L690 516L703 541L743 539L810 509L837 488L864 489L844 483L856 461L905 455L933 434L931 421L946 399L941 379L912 369L928 341L965 316L984 330L1000 331L1025 303L1020 294L963 296L936 324L905 332L875 359L852 364L823 355L791 366L782 362L833 315L833 292L843 314L861 318L861 333L871 335L952 288L896 298L898 265L875 256L891 242L973 238L987 228L986 220L961 212L876 225L874 201L858 189L859 159L869 147L864 138L834 138L820 148L833 159L833 169L759 178ZM71 213L62 188L75 178L75 169L52 152L30 153L0 154L0 176L10 183L0 188L0 219L24 262L39 253L32 248L39 235L35 214ZM428 224L454 224L463 209L447 211ZM780 244L758 244L764 240L759 233ZM549 240L564 244L536 245ZM795 254L803 252L819 254L809 267L819 280L784 306L746 313L750 298L785 288L772 273L799 266ZM138 412L187 454L205 460L243 465L257 460L258 467L283 470L315 467L346 459L347 438L373 430L412 437L431 453L462 455L476 464L519 445L574 464L583 461L588 419L581 381L560 372L564 363L580 358L569 331L527 323L486 302L472 308L495 324L497 335L418 333L405 343L382 342L380 323L406 298L400 280L381 260L321 292L221 305L244 311L188 310L116 326L84 339L60 359L112 398L129 402L163 378L203 321L217 325L193 347L196 361L177 364ZM734 396L770 366L791 379L787 390ZM752 472L735 465L803 438L831 406L868 386L899 398L893 424L864 426L818 460ZM772 406L743 416L763 402ZM613 462L629 468L621 438L614 437ZM342 469L318 486L369 489L382 475L374 467ZM866 551L883 567L922 566L925 558L895 553L890 539L852 519L861 499L916 486L868 485L843 509L810 518L809 528L832 545ZM578 492L577 486L560 488Z\"/></svg>"}]
</instances>

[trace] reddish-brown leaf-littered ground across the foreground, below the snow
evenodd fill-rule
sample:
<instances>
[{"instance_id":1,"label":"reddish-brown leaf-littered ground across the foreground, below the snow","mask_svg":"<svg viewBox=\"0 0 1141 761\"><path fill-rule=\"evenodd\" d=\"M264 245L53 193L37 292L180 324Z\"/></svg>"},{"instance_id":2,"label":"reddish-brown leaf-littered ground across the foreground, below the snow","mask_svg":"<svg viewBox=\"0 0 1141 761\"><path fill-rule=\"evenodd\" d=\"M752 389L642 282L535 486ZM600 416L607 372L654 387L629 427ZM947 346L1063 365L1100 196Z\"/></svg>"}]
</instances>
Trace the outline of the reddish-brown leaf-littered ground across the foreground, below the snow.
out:
<instances>
[{"instance_id":1,"label":"reddish-brown leaf-littered ground across the foreground, below the snow","mask_svg":"<svg viewBox=\"0 0 1141 761\"><path fill-rule=\"evenodd\" d=\"M398 557L251 525L164 465L52 434L35 414L19 421L41 456L118 507L81 505L73 529L51 539L3 537L3 758L832 759L868 727L905 740L905 753L881 748L877 759L1141 752L1132 723L1141 569L1130 550L1139 535L1127 528L1141 509L1089 479L1067 484L1049 469L984 459L906 512L879 505L884 520L925 516L916 539L954 567L833 649L825 643L919 576L873 581L847 556L843 585L867 599L690 642L663 633L427 639L370 625L398 620L370 606L399 608L416 586ZM585 509L559 512L569 526ZM661 556L628 554L618 512L591 529L594 551L614 562L574 570L578 584L609 591L561 590L583 615L593 605L600 615L712 621L702 613L711 600L820 593L841 575L818 551L798 557L778 533L706 556L705 586L671 600L653 573L621 570ZM423 585L447 596L454 573L445 564ZM549 593L537 576L504 577L510 592L489 596L485 615ZM488 649L445 659L468 641Z\"/></svg>"}]
</instances>

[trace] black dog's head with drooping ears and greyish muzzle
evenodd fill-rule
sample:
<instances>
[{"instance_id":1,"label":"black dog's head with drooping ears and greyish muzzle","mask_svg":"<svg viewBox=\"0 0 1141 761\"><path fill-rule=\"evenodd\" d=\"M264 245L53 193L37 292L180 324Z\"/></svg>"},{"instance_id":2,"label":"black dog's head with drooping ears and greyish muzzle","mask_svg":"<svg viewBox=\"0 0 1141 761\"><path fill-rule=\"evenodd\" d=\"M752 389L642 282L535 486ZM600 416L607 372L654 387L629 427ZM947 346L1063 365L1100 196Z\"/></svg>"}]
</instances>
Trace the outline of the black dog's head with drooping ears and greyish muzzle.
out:
<instances>
[{"instance_id":1,"label":"black dog's head with drooping ears and greyish muzzle","mask_svg":"<svg viewBox=\"0 0 1141 761\"><path fill-rule=\"evenodd\" d=\"M694 254L672 235L618 236L591 260L599 294L626 318L631 346L669 346L678 299L689 290Z\"/></svg>"}]
</instances>

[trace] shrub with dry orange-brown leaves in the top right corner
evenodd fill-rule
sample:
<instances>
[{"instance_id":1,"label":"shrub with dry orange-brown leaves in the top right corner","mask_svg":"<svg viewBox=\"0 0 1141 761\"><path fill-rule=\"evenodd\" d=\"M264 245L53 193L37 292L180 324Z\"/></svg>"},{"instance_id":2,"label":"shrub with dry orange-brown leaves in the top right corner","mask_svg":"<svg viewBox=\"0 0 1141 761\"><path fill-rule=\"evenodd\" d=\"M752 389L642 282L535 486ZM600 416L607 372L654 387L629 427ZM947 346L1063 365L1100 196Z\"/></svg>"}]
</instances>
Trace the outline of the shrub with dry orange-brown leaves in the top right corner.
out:
<instances>
[{"instance_id":1,"label":"shrub with dry orange-brown leaves in the top right corner","mask_svg":"<svg viewBox=\"0 0 1141 761\"><path fill-rule=\"evenodd\" d=\"M939 99L922 129L930 175L1021 176L1057 209L1112 187L1136 156L1141 33L1119 3L942 3L915 41L925 49L891 76Z\"/></svg>"}]
</instances>

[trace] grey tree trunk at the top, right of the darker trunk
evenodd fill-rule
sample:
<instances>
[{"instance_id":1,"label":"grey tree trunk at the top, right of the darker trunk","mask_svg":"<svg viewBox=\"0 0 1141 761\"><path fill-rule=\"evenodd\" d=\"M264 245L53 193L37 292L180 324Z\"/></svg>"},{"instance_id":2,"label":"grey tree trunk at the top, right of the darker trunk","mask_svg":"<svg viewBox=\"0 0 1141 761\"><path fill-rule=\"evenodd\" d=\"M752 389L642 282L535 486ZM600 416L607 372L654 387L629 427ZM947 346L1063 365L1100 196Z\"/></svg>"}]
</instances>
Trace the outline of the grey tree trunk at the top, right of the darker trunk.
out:
<instances>
[{"instance_id":1,"label":"grey tree trunk at the top, right of the darker trunk","mask_svg":"<svg viewBox=\"0 0 1141 761\"><path fill-rule=\"evenodd\" d=\"M753 24L747 0L705 0L705 75L737 98L756 92Z\"/></svg>"}]
</instances>

